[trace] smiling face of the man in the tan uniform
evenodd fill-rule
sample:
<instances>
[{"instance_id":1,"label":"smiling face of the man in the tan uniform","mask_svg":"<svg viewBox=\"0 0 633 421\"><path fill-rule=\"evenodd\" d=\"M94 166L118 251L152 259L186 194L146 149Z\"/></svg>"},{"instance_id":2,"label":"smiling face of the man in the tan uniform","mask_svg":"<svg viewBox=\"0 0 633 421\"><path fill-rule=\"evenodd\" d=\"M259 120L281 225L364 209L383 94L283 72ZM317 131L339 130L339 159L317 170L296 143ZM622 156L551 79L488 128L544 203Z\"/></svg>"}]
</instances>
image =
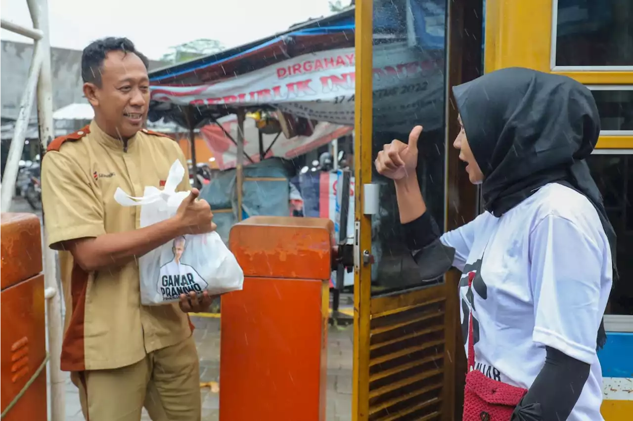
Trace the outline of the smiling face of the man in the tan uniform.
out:
<instances>
[{"instance_id":1,"label":"smiling face of the man in the tan uniform","mask_svg":"<svg viewBox=\"0 0 633 421\"><path fill-rule=\"evenodd\" d=\"M149 108L149 78L139 56L111 51L103 61L101 86L84 84L97 123L109 135L127 139L141 130ZM94 69L99 71L99 69Z\"/></svg>"}]
</instances>

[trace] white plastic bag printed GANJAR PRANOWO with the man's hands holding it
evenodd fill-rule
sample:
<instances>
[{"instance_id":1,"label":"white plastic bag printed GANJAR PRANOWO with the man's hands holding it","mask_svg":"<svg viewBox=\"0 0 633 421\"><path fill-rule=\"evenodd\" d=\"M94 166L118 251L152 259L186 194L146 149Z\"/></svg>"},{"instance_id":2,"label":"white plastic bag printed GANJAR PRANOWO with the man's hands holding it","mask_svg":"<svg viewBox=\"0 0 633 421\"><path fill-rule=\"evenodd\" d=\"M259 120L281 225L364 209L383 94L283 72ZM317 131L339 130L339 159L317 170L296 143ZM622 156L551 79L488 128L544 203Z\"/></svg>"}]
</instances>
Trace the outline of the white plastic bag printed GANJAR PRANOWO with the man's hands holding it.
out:
<instances>
[{"instance_id":1,"label":"white plastic bag printed GANJAR PRANOWO with the man's hands holding it","mask_svg":"<svg viewBox=\"0 0 633 421\"><path fill-rule=\"evenodd\" d=\"M182 233L139 258L141 303L180 301L183 311L200 311L211 296L241 290L244 272L215 232L210 205L198 199L199 191L175 191L183 176L175 161L163 190L147 186L143 197L130 197L118 188L115 200L141 206L140 228L171 219Z\"/></svg>"}]
</instances>

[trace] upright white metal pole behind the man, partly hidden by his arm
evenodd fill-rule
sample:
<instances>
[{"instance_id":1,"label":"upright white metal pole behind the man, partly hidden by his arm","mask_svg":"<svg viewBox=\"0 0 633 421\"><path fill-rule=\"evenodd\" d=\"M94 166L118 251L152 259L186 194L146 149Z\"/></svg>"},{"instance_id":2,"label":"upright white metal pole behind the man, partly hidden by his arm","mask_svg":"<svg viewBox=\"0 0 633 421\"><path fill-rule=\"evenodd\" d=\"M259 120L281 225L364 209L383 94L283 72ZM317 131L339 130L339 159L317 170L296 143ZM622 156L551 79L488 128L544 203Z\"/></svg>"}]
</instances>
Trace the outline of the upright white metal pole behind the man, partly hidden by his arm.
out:
<instances>
[{"instance_id":1,"label":"upright white metal pole behind the man, partly hidden by his arm","mask_svg":"<svg viewBox=\"0 0 633 421\"><path fill-rule=\"evenodd\" d=\"M41 30L42 66L37 82L37 121L42 144L40 162L46 153L46 147L54 137L53 126L53 82L51 80L51 42L49 39L47 0L27 0L33 26ZM40 167L41 168L41 167ZM48 245L48 236L44 229L44 283L46 284L46 303L48 321L49 373L51 376L51 421L66 419L65 378L61 372L61 342L63 324L61 322L61 293L58 290L56 252Z\"/></svg>"}]
</instances>

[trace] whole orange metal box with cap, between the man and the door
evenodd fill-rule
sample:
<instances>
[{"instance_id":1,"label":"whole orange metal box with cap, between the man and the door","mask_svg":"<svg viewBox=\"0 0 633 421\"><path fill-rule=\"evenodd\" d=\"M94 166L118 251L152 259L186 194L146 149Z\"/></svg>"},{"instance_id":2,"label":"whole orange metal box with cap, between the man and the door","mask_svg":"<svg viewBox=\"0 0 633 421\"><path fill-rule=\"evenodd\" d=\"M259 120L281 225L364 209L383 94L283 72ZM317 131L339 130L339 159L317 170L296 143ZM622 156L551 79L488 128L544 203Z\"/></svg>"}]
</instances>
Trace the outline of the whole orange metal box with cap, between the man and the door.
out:
<instances>
[{"instance_id":1,"label":"whole orange metal box with cap, between the man and the door","mask_svg":"<svg viewBox=\"0 0 633 421\"><path fill-rule=\"evenodd\" d=\"M244 288L222 296L220 421L324 421L334 224L256 216L229 243Z\"/></svg>"}]
</instances>

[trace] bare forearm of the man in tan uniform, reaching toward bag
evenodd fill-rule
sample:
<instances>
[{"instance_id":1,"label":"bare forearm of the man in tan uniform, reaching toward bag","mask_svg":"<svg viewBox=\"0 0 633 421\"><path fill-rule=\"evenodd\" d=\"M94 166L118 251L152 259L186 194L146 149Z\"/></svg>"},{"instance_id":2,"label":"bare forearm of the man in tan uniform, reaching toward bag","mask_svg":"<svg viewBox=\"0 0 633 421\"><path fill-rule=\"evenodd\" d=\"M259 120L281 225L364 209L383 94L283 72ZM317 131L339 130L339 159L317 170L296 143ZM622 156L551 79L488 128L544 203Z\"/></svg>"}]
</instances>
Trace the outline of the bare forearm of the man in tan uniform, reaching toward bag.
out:
<instances>
[{"instance_id":1,"label":"bare forearm of the man in tan uniform, reaching toward bag","mask_svg":"<svg viewBox=\"0 0 633 421\"><path fill-rule=\"evenodd\" d=\"M171 218L134 231L66 241L64 246L84 271L92 272L120 267L182 234L182 226Z\"/></svg>"}]
</instances>

